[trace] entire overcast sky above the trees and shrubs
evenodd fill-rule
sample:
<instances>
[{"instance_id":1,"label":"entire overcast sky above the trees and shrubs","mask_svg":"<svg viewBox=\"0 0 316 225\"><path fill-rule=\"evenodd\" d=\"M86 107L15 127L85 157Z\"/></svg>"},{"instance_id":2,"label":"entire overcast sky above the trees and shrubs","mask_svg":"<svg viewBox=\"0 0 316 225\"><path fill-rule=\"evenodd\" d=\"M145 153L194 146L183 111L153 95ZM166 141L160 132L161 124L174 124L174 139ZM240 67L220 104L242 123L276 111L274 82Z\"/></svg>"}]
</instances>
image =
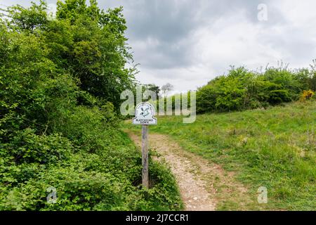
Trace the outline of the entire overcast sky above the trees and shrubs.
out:
<instances>
[{"instance_id":1,"label":"entire overcast sky above the trees and shrubs","mask_svg":"<svg viewBox=\"0 0 316 225\"><path fill-rule=\"evenodd\" d=\"M126 35L134 60L140 63L136 78L142 83L169 82L176 91L192 90L223 75L230 65L256 70L283 60L291 68L301 68L316 58L315 0L98 2L100 8L124 7ZM259 4L267 6L268 14Z\"/></svg>"}]
</instances>

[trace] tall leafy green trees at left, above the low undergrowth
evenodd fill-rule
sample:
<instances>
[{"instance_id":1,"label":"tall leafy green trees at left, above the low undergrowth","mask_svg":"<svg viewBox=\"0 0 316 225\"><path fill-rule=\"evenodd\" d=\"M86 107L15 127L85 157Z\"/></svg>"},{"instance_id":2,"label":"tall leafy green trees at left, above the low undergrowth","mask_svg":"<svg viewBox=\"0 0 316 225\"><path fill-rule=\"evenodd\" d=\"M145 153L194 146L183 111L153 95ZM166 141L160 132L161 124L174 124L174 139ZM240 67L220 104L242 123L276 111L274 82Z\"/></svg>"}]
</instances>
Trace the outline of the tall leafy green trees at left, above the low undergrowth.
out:
<instances>
[{"instance_id":1,"label":"tall leafy green trees at left, above the low undergrowth","mask_svg":"<svg viewBox=\"0 0 316 225\"><path fill-rule=\"evenodd\" d=\"M104 12L96 1L85 2L58 1L51 20L46 1L6 10L11 19L0 19L0 128L41 133L62 124L62 112L75 105L119 108L135 71L125 67L132 56L122 8Z\"/></svg>"}]
</instances>

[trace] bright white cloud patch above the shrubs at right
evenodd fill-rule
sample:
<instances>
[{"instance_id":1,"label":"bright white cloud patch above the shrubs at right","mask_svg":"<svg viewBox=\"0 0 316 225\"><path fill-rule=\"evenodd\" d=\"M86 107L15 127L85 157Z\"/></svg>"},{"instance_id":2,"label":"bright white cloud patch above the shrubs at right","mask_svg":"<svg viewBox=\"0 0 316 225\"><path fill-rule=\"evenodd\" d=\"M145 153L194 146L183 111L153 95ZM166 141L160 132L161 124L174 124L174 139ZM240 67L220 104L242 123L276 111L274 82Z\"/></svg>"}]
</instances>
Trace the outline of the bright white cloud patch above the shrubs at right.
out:
<instances>
[{"instance_id":1,"label":"bright white cloud patch above the shrubs at right","mask_svg":"<svg viewBox=\"0 0 316 225\"><path fill-rule=\"evenodd\" d=\"M272 30L273 27L249 23L243 11L220 18L195 32L195 62L207 65L210 69L218 68L216 75L220 75L228 65L257 68L283 58L286 53L276 51L264 39Z\"/></svg>"}]
</instances>

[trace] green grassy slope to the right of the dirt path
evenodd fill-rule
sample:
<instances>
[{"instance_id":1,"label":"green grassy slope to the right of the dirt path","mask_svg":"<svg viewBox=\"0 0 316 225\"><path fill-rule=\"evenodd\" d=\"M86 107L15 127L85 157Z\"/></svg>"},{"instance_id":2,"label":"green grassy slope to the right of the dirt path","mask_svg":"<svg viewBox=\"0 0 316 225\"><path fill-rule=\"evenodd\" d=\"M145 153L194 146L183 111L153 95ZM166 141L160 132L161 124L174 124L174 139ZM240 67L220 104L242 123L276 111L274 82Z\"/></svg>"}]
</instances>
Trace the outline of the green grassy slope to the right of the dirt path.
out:
<instances>
[{"instance_id":1,"label":"green grassy slope to the right of the dirt path","mask_svg":"<svg viewBox=\"0 0 316 225\"><path fill-rule=\"evenodd\" d=\"M265 210L316 210L316 101L268 110L159 117L150 131L169 134L185 150L218 163L249 188L256 199L268 188ZM237 209L222 204L219 210ZM246 210L254 210L251 204Z\"/></svg>"}]
</instances>

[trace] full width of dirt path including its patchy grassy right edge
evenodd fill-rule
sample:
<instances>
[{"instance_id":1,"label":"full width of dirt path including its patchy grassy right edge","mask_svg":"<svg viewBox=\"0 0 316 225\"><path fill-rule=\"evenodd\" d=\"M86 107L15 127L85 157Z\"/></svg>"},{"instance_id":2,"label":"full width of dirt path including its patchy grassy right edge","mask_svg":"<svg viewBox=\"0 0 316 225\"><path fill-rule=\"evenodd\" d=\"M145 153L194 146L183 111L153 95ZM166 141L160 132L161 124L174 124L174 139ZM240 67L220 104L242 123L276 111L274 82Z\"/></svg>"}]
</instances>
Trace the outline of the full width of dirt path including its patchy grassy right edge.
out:
<instances>
[{"instance_id":1,"label":"full width of dirt path including its patchy grassy right edge","mask_svg":"<svg viewBox=\"0 0 316 225\"><path fill-rule=\"evenodd\" d=\"M140 134L125 131L141 146ZM220 165L183 150L169 136L150 133L149 147L159 155L154 160L165 160L171 167L185 210L248 210L249 204L254 203L247 188L235 179L235 172L227 172Z\"/></svg>"}]
</instances>

